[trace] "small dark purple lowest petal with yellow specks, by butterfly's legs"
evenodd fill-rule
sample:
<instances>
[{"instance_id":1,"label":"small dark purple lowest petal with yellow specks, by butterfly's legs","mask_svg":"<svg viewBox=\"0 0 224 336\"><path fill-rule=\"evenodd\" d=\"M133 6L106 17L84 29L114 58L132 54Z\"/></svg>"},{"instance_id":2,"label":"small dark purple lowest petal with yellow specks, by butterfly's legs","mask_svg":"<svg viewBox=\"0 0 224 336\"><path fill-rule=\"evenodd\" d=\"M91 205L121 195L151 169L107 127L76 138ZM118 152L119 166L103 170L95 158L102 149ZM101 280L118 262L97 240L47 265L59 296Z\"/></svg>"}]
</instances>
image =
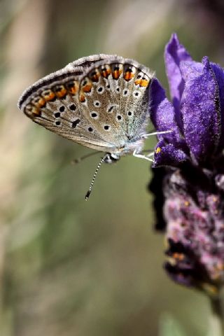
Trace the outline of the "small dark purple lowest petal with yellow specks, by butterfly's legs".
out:
<instances>
[{"instance_id":1,"label":"small dark purple lowest petal with yellow specks, by butterfly's legs","mask_svg":"<svg viewBox=\"0 0 224 336\"><path fill-rule=\"evenodd\" d=\"M160 166L178 167L186 161L188 161L186 153L173 144L165 144L165 141L161 140L155 147L153 168Z\"/></svg>"}]
</instances>

